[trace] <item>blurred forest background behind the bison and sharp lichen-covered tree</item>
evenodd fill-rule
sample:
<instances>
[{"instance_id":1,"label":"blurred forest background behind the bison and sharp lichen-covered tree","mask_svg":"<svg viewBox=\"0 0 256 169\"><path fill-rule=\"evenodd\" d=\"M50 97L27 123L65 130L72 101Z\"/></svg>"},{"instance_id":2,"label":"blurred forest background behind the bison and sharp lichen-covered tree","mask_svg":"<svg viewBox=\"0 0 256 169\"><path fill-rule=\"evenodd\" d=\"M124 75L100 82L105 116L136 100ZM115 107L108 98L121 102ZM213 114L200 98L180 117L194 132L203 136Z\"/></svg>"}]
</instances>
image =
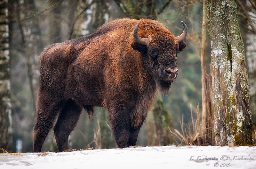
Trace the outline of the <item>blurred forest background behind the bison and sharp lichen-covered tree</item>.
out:
<instances>
[{"instance_id":1,"label":"blurred forest background behind the bison and sharp lichen-covered tree","mask_svg":"<svg viewBox=\"0 0 256 169\"><path fill-rule=\"evenodd\" d=\"M237 6L249 75L252 120L255 125L256 4L252 0L238 0ZM183 30L180 21L188 26L185 40L188 45L178 54L179 76L167 95L157 94L152 110L140 130L137 145L181 144L171 131L184 132L184 128L191 130L188 128L194 123L193 119L200 118L202 0L9 0L8 10L12 152L32 152L33 149L40 53L52 43L91 34L99 26L116 18L156 19L176 36ZM210 47L207 37L207 73L210 71ZM86 147L116 147L105 109L96 108L90 119L83 110L71 133L69 148ZM58 151L53 131L44 142L42 151Z\"/></svg>"}]
</instances>

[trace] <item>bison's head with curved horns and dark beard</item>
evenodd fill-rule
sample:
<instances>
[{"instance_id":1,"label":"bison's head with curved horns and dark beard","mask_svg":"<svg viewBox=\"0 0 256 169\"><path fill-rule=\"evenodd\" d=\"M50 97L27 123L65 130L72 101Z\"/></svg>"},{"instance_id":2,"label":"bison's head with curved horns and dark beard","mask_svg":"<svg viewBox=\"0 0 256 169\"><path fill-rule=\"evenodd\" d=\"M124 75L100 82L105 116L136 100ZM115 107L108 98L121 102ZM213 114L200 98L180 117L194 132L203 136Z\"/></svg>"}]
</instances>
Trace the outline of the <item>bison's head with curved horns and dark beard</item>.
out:
<instances>
[{"instance_id":1,"label":"bison's head with curved horns and dark beard","mask_svg":"<svg viewBox=\"0 0 256 169\"><path fill-rule=\"evenodd\" d=\"M175 37L159 22L158 25L146 25L145 30L138 34L138 23L133 32L135 42L132 48L143 53L145 67L149 74L156 80L156 83L162 92L166 92L171 86L172 81L178 75L177 53L186 47L183 40L188 34L187 25L183 24L183 32L180 36ZM142 25L143 27L143 25ZM151 29L150 29L151 27Z\"/></svg>"}]
</instances>

